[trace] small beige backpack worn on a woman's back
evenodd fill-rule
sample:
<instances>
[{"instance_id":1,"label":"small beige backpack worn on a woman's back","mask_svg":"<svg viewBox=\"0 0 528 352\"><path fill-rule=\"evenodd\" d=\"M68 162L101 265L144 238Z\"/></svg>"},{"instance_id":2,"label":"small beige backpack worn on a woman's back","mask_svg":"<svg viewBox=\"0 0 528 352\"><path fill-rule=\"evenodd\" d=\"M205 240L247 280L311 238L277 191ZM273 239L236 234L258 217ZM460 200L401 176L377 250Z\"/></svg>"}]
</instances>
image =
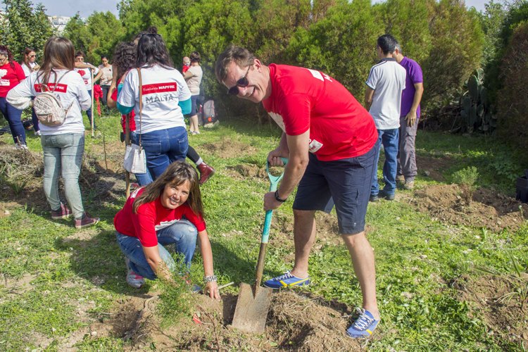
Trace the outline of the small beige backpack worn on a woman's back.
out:
<instances>
[{"instance_id":1,"label":"small beige backpack worn on a woman's back","mask_svg":"<svg viewBox=\"0 0 528 352\"><path fill-rule=\"evenodd\" d=\"M68 106L68 108L64 108L61 101L59 101L54 94L58 83L61 82L62 78L68 72L63 73L63 75L55 81L54 88L51 92L49 90L48 85L40 83L39 77L37 77L37 84L39 84L42 93L37 94L37 96L35 97L33 101L33 108L35 115L37 115L37 118L39 119L39 122L43 125L49 127L56 127L62 125L64 123L64 120L66 119L66 115L68 115L68 111L73 105L72 102L70 106ZM56 73L55 78L57 78Z\"/></svg>"}]
</instances>

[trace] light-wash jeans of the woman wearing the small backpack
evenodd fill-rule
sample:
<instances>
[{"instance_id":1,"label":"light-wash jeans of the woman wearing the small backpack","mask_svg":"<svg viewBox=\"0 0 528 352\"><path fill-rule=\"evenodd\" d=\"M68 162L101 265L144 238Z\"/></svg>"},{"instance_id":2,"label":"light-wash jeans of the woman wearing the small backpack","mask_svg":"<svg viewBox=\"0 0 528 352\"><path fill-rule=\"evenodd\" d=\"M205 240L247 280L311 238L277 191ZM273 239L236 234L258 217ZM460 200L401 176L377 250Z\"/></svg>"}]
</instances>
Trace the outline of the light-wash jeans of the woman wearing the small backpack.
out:
<instances>
[{"instance_id":1,"label":"light-wash jeans of the woman wearing the small backpack","mask_svg":"<svg viewBox=\"0 0 528 352\"><path fill-rule=\"evenodd\" d=\"M76 219L82 218L81 190L79 174L84 153L84 133L65 133L42 136L40 139L44 151L44 194L51 210L61 208L58 196L58 177L64 180L64 193Z\"/></svg>"}]
</instances>

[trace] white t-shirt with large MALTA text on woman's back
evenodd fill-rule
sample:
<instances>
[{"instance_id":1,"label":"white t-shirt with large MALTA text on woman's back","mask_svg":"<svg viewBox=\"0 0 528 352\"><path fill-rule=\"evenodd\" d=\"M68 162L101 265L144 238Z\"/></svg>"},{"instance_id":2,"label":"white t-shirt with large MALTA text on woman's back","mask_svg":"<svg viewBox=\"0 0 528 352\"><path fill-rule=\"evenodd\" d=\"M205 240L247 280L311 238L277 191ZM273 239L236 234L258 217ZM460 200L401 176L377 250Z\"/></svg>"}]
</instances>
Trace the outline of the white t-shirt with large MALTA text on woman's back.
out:
<instances>
[{"instance_id":1,"label":"white t-shirt with large MALTA text on woman's back","mask_svg":"<svg viewBox=\"0 0 528 352\"><path fill-rule=\"evenodd\" d=\"M136 113L136 132L148 133L167 130L173 127L185 127L180 101L191 99L187 83L175 68L153 65L142 68L143 111L139 126L139 76L137 70L131 70L125 77L118 103L122 106L134 106Z\"/></svg>"}]
</instances>

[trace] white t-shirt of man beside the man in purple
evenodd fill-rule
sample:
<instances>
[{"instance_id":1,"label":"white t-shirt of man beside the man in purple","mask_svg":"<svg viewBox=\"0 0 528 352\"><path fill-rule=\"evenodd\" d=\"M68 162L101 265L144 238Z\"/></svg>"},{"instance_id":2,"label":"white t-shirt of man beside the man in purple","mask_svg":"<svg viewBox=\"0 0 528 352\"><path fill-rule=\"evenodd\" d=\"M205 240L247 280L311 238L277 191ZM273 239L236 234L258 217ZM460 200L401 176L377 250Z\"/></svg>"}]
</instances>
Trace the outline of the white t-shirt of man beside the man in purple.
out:
<instances>
[{"instance_id":1,"label":"white t-shirt of man beside the man in purple","mask_svg":"<svg viewBox=\"0 0 528 352\"><path fill-rule=\"evenodd\" d=\"M394 58L384 58L370 68L365 83L374 90L369 113L378 130L400 127L401 92L406 87L406 75L405 68Z\"/></svg>"}]
</instances>

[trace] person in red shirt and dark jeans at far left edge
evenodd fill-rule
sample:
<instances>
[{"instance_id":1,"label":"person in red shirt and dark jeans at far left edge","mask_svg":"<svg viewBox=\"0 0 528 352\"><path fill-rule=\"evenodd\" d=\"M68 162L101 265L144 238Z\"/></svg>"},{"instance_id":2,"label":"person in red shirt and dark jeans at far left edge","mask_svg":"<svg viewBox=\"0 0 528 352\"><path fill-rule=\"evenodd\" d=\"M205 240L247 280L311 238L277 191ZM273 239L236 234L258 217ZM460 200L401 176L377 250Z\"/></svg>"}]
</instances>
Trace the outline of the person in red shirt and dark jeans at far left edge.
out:
<instances>
[{"instance_id":1,"label":"person in red shirt and dark jeans at far left edge","mask_svg":"<svg viewBox=\"0 0 528 352\"><path fill-rule=\"evenodd\" d=\"M13 142L17 149L27 149L25 130L20 117L22 111L6 101L7 93L25 80L25 73L13 54L5 45L0 45L0 112L9 123Z\"/></svg>"}]
</instances>

